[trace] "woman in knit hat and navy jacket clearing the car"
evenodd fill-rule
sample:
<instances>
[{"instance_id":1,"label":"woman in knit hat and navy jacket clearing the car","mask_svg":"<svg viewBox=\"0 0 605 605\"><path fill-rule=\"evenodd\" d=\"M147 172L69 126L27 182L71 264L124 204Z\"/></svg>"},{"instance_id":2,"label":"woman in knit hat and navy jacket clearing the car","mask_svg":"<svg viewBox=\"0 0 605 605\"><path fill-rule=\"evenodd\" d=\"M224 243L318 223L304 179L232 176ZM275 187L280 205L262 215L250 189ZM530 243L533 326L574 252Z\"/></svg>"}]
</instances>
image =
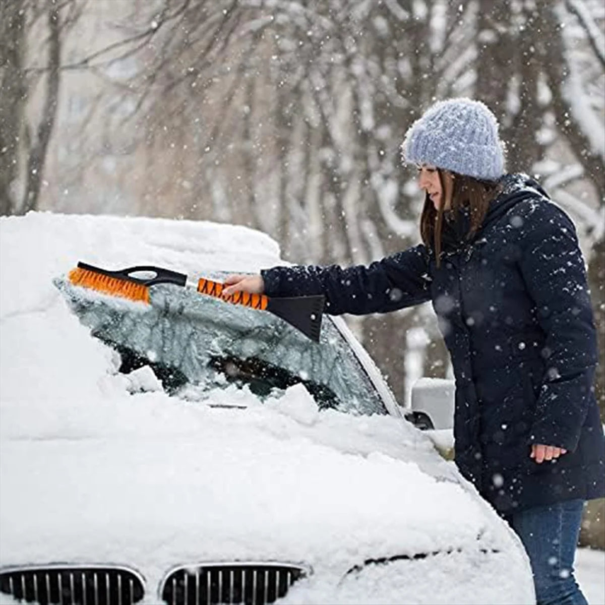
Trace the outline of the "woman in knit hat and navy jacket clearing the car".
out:
<instances>
[{"instance_id":1,"label":"woman in knit hat and navy jacket clearing the car","mask_svg":"<svg viewBox=\"0 0 605 605\"><path fill-rule=\"evenodd\" d=\"M422 244L369 266L274 267L224 293L323 293L327 312L431 300L456 376L456 464L520 536L538 603L586 603L572 574L583 504L605 495L597 342L574 225L505 175L483 103L436 103L404 140L425 192Z\"/></svg>"}]
</instances>

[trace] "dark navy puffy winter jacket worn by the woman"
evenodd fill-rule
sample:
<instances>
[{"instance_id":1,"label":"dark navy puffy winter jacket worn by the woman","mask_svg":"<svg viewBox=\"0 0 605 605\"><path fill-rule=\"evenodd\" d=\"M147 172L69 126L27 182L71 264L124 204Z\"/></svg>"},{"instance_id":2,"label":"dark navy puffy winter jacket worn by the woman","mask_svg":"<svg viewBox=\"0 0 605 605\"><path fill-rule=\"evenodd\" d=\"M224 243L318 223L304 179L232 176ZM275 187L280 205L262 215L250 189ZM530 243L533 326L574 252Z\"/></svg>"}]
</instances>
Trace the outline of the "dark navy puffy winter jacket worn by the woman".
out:
<instances>
[{"instance_id":1,"label":"dark navy puffy winter jacket worn by the woman","mask_svg":"<svg viewBox=\"0 0 605 605\"><path fill-rule=\"evenodd\" d=\"M501 512L605 495L594 394L597 339L574 225L538 183L506 175L482 229L370 266L263 270L269 296L323 293L331 315L431 300L456 377L454 437L463 476ZM536 463L532 443L567 450Z\"/></svg>"}]
</instances>

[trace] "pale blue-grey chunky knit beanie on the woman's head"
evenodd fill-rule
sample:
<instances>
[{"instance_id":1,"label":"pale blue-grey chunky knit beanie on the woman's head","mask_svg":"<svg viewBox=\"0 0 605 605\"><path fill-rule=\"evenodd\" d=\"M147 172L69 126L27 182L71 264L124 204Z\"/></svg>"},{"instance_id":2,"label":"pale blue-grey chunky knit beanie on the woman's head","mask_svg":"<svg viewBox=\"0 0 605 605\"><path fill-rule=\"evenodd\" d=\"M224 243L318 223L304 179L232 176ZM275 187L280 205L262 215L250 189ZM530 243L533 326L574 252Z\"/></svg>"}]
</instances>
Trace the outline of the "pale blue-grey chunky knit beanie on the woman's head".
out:
<instances>
[{"instance_id":1,"label":"pale blue-grey chunky knit beanie on the woman's head","mask_svg":"<svg viewBox=\"0 0 605 605\"><path fill-rule=\"evenodd\" d=\"M435 103L410 126L402 151L406 163L425 163L484 180L504 174L498 120L480 101Z\"/></svg>"}]
</instances>

